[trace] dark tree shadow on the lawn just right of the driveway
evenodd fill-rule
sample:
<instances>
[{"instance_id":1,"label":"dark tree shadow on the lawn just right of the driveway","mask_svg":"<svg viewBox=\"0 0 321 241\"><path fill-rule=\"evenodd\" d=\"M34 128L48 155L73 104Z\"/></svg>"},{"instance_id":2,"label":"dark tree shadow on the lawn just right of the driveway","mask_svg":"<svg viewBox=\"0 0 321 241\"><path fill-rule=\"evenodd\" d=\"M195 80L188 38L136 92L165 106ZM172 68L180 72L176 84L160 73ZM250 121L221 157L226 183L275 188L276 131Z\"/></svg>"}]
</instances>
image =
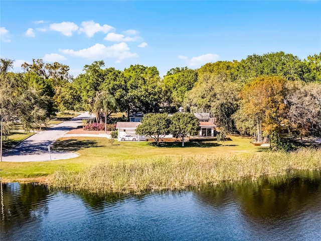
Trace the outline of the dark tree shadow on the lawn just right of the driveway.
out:
<instances>
[{"instance_id":1,"label":"dark tree shadow on the lawn just right of the driveway","mask_svg":"<svg viewBox=\"0 0 321 241\"><path fill-rule=\"evenodd\" d=\"M83 150L90 147L102 147L98 146L97 141L91 140L77 140L77 139L68 139L68 140L58 140L52 146L52 151L57 152L75 152Z\"/></svg>"}]
</instances>

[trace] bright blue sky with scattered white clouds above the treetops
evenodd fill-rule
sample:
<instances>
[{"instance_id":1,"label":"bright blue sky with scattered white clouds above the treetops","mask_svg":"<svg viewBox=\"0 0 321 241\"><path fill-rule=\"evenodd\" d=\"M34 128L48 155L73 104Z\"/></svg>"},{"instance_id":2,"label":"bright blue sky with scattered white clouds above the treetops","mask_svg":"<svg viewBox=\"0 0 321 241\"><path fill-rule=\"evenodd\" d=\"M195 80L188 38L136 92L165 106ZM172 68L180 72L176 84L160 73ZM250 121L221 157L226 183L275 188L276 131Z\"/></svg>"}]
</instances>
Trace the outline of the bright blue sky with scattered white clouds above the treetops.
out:
<instances>
[{"instance_id":1,"label":"bright blue sky with scattered white clouds above the treetops","mask_svg":"<svg viewBox=\"0 0 321 241\"><path fill-rule=\"evenodd\" d=\"M123 70L241 60L284 51L300 59L321 52L320 1L4 1L2 58L70 66L104 60Z\"/></svg>"}]
</instances>

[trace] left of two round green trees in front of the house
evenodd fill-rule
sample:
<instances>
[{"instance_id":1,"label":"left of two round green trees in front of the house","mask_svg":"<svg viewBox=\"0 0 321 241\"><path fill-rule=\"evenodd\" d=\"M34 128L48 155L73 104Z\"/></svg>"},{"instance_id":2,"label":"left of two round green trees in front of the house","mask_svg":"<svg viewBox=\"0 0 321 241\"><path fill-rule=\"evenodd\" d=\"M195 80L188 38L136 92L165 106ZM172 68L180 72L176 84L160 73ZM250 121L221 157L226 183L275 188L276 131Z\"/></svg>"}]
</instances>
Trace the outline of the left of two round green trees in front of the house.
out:
<instances>
[{"instance_id":1,"label":"left of two round green trees in front of the house","mask_svg":"<svg viewBox=\"0 0 321 241\"><path fill-rule=\"evenodd\" d=\"M169 127L170 118L167 113L148 113L137 127L136 134L153 138L158 146L159 140L169 134Z\"/></svg>"}]
</instances>

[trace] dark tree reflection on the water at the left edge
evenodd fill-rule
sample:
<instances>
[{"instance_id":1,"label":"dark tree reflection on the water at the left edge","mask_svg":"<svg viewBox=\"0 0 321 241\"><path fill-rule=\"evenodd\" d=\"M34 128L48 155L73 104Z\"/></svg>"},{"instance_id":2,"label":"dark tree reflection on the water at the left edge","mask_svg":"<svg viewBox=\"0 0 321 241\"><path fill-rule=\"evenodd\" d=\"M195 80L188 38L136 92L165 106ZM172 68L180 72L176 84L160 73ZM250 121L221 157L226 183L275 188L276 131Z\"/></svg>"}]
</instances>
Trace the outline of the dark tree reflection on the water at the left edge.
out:
<instances>
[{"instance_id":1,"label":"dark tree reflection on the water at the left edge","mask_svg":"<svg viewBox=\"0 0 321 241\"><path fill-rule=\"evenodd\" d=\"M46 212L48 195L47 188L43 185L1 183L1 232L19 223L25 223L39 215L36 210Z\"/></svg>"}]
</instances>

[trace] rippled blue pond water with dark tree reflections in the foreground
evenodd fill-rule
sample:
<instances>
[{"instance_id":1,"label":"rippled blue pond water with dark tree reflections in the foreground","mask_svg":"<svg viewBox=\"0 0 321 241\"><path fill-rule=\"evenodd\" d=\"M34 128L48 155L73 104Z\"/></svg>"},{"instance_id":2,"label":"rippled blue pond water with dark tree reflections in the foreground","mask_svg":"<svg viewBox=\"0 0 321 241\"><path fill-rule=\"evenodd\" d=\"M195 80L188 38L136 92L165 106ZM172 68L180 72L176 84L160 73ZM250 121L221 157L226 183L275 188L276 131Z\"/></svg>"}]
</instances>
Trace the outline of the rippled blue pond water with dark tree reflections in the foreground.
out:
<instances>
[{"instance_id":1,"label":"rippled blue pond water with dark tree reflections in the foreground","mask_svg":"<svg viewBox=\"0 0 321 241\"><path fill-rule=\"evenodd\" d=\"M321 240L321 172L117 197L1 185L1 240Z\"/></svg>"}]
</instances>

